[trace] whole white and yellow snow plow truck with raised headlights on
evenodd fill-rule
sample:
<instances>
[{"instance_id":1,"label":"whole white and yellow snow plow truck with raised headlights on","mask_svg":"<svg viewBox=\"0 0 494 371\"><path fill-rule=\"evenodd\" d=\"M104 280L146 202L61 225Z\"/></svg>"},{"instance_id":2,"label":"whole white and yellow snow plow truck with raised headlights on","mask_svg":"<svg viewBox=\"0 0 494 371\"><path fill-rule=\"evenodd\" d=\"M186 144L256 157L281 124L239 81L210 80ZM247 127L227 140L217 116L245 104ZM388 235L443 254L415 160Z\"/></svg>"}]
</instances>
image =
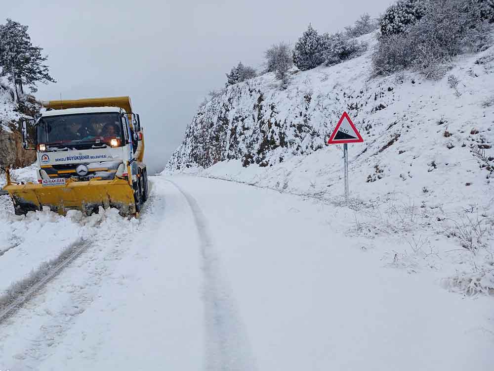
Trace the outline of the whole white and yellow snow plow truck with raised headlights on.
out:
<instances>
[{"instance_id":1,"label":"whole white and yellow snow plow truck with raised headlights on","mask_svg":"<svg viewBox=\"0 0 494 371\"><path fill-rule=\"evenodd\" d=\"M115 207L138 216L148 198L144 137L128 96L50 100L22 122L23 146L37 151L38 183L12 182L3 190L17 215L43 206L65 215Z\"/></svg>"}]
</instances>

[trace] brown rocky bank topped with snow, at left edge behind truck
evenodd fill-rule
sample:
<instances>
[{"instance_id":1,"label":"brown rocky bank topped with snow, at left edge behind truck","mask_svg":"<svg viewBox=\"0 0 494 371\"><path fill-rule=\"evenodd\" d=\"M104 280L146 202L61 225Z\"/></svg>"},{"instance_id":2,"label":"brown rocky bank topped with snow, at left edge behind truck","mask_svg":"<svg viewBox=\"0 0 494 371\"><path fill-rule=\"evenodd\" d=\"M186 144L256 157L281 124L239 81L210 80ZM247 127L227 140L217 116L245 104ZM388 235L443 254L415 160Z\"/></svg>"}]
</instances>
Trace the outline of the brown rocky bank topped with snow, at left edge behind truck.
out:
<instances>
[{"instance_id":1,"label":"brown rocky bank topped with snow, at left edge behind truck","mask_svg":"<svg viewBox=\"0 0 494 371\"><path fill-rule=\"evenodd\" d=\"M35 151L22 147L20 123L23 118L33 117L40 106L32 96L16 106L8 88L0 85L0 166L24 167L36 160Z\"/></svg>"}]
</instances>

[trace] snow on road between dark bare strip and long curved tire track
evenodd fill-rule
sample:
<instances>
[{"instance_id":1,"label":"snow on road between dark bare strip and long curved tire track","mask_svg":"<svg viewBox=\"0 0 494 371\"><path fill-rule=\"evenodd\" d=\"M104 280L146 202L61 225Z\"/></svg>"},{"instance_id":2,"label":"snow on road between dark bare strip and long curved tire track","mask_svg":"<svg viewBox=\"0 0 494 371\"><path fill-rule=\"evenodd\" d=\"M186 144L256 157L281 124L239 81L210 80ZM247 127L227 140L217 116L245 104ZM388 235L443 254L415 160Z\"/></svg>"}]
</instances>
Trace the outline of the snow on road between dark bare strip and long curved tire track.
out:
<instances>
[{"instance_id":1,"label":"snow on road between dark bare strip and long curved tire track","mask_svg":"<svg viewBox=\"0 0 494 371\"><path fill-rule=\"evenodd\" d=\"M0 324L0 370L202 368L195 225L172 185L152 192L139 221L111 210L93 228L98 216L72 227L92 243Z\"/></svg>"}]
</instances>

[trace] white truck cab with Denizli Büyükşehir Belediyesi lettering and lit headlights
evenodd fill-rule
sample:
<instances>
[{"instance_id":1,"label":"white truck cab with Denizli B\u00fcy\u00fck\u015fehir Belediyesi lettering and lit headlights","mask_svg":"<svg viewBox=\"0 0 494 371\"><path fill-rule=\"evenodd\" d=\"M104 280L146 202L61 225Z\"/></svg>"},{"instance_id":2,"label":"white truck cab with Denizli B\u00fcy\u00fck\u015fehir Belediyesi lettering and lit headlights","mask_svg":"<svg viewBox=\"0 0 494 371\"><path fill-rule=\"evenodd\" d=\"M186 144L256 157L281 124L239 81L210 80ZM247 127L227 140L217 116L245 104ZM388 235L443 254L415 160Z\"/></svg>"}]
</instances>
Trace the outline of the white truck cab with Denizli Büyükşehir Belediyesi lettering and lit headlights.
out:
<instances>
[{"instance_id":1,"label":"white truck cab with Denizli B\u00fcy\u00fck\u015fehir Belediyesi lettering and lit headlights","mask_svg":"<svg viewBox=\"0 0 494 371\"><path fill-rule=\"evenodd\" d=\"M136 128L140 129L140 128ZM138 147L139 130L132 130L119 107L87 107L42 112L35 122L38 182L71 178L113 180L127 177L128 161ZM133 180L137 162L132 161Z\"/></svg>"}]
</instances>

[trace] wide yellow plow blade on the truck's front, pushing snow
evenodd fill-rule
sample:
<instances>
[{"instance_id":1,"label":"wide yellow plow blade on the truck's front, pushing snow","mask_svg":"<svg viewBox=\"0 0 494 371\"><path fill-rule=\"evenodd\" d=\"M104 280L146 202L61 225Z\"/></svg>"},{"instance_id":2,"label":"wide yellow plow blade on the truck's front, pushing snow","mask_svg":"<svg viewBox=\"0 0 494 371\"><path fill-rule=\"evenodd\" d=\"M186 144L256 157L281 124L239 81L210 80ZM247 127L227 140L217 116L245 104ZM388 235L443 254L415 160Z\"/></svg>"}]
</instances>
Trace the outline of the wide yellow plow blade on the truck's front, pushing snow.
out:
<instances>
[{"instance_id":1,"label":"wide yellow plow blade on the truck's front, pushing snow","mask_svg":"<svg viewBox=\"0 0 494 371\"><path fill-rule=\"evenodd\" d=\"M81 210L89 215L103 206L105 209L115 207L123 216L136 215L134 192L128 182L122 179L92 179L87 182L67 179L65 185L50 186L7 184L3 190L12 198L16 214L42 210L43 206L47 206L62 215L69 210Z\"/></svg>"}]
</instances>

